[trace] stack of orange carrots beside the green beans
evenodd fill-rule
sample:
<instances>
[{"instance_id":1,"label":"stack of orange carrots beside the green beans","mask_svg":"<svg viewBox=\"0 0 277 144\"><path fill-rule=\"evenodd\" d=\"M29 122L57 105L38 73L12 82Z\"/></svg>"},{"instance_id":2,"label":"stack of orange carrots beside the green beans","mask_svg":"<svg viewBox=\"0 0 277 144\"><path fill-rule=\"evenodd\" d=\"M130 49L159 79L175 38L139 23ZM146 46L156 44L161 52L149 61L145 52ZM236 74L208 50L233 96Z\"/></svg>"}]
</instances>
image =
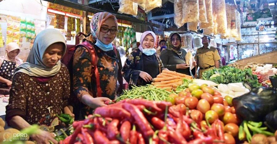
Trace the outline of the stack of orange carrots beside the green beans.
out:
<instances>
[{"instance_id":1,"label":"stack of orange carrots beside the green beans","mask_svg":"<svg viewBox=\"0 0 277 144\"><path fill-rule=\"evenodd\" d=\"M191 76L186 74L177 73L175 71L163 70L157 78L153 79L152 85L164 88L164 89L174 89L183 83L183 78L192 79Z\"/></svg>"}]
</instances>

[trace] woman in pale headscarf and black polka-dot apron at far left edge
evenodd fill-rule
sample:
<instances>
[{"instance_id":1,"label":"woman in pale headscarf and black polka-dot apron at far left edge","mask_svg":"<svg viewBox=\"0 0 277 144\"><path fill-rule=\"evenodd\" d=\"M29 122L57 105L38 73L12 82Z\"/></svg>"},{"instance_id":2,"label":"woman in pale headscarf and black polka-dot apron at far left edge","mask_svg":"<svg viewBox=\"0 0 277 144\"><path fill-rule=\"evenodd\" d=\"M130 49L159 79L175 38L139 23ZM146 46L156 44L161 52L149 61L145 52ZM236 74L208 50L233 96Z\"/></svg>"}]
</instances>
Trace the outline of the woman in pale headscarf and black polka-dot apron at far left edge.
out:
<instances>
[{"instance_id":1,"label":"woman in pale headscarf and black polka-dot apron at far left edge","mask_svg":"<svg viewBox=\"0 0 277 144\"><path fill-rule=\"evenodd\" d=\"M18 44L9 43L6 45L5 56L0 57L0 88L11 87L14 70L23 63L17 57L19 53L20 48Z\"/></svg>"}]
</instances>

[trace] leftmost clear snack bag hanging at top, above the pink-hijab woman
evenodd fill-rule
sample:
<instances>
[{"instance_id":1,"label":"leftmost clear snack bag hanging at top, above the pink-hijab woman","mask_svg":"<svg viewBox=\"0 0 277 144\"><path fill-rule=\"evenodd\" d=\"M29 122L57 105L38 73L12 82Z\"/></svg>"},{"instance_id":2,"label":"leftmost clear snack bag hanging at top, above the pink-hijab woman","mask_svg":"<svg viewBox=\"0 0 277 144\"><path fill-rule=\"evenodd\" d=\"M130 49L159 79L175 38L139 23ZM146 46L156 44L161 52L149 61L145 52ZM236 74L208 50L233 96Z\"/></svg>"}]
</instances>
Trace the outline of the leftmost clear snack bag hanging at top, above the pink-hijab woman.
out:
<instances>
[{"instance_id":1,"label":"leftmost clear snack bag hanging at top, above the pink-hijab woman","mask_svg":"<svg viewBox=\"0 0 277 144\"><path fill-rule=\"evenodd\" d=\"M130 0L119 0L118 13L130 14L136 17L138 14L138 4Z\"/></svg>"}]
</instances>

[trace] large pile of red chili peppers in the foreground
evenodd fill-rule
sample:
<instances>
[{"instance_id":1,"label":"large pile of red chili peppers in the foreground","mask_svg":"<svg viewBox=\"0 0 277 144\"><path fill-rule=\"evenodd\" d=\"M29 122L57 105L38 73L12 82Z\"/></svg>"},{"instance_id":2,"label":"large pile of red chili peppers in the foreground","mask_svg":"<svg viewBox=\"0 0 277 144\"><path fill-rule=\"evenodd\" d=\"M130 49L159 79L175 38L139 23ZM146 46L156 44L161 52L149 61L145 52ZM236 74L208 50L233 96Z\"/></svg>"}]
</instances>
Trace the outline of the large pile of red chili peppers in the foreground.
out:
<instances>
[{"instance_id":1,"label":"large pile of red chili peppers in the foreground","mask_svg":"<svg viewBox=\"0 0 277 144\"><path fill-rule=\"evenodd\" d=\"M74 133L60 144L199 144L224 143L224 125L217 119L202 125L184 104L126 99L96 108L93 115L73 123Z\"/></svg>"}]
</instances>

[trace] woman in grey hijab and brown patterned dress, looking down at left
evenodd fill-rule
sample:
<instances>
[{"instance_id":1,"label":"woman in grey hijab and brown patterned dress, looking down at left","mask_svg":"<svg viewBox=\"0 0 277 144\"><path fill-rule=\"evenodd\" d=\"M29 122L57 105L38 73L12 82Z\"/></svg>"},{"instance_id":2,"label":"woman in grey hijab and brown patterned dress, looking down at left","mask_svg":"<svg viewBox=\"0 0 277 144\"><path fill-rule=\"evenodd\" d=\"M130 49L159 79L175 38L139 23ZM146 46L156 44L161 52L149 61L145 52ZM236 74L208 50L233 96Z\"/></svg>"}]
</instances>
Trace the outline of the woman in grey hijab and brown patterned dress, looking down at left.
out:
<instances>
[{"instance_id":1,"label":"woman in grey hijab and brown patterned dress, looking down at left","mask_svg":"<svg viewBox=\"0 0 277 144\"><path fill-rule=\"evenodd\" d=\"M65 39L58 30L46 29L36 36L26 63L14 73L5 117L11 127L21 130L38 124L54 129L56 115L67 113L74 117L68 104L69 72L60 62L65 51ZM30 137L37 143L57 143L50 132Z\"/></svg>"}]
</instances>

